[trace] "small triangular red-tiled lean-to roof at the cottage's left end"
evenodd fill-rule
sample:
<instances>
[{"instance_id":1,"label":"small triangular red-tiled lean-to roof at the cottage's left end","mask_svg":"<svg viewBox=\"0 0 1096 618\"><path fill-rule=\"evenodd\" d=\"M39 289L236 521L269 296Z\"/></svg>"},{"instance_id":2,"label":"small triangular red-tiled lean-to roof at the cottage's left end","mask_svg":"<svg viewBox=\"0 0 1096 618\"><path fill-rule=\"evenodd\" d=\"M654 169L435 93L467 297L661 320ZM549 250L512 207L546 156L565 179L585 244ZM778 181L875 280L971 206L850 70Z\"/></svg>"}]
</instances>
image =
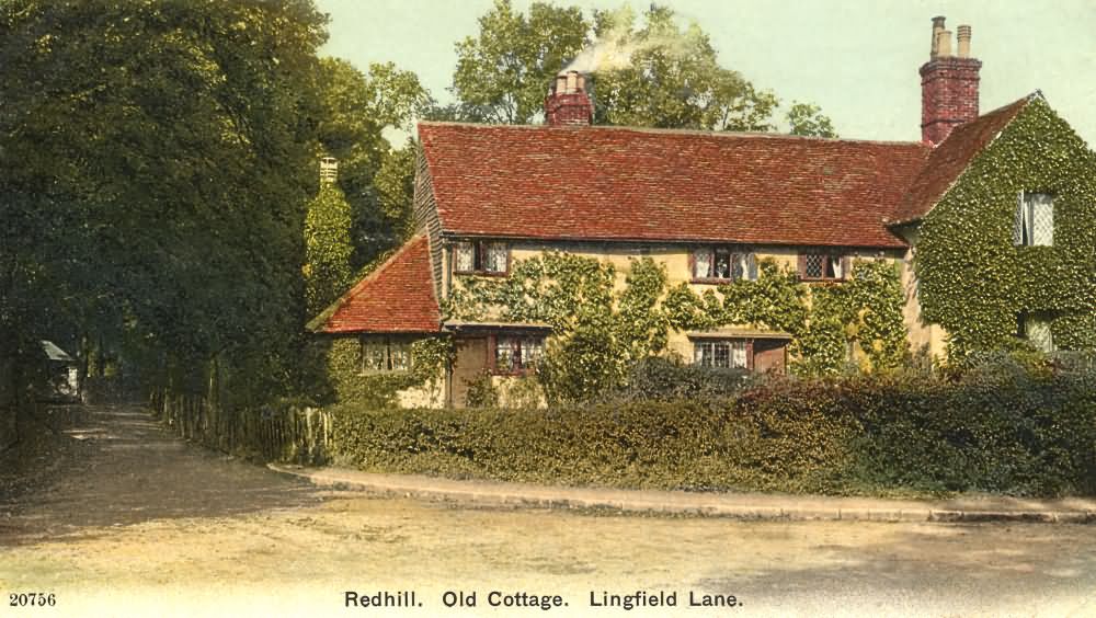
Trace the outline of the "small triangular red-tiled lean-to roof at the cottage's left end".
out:
<instances>
[{"instance_id":1,"label":"small triangular red-tiled lean-to roof at the cottage's left end","mask_svg":"<svg viewBox=\"0 0 1096 618\"><path fill-rule=\"evenodd\" d=\"M430 244L425 236L407 242L309 325L320 333L436 332L441 311L434 297Z\"/></svg>"}]
</instances>

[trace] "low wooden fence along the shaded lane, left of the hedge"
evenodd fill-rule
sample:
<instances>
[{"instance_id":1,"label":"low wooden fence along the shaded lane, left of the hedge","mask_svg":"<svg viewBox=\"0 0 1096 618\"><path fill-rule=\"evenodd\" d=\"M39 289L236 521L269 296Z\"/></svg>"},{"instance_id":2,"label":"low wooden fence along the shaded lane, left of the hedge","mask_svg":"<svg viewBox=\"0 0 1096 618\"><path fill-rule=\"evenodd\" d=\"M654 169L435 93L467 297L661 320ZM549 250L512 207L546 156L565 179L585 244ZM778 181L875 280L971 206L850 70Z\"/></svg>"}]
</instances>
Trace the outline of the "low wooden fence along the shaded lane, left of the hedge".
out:
<instances>
[{"instance_id":1,"label":"low wooden fence along the shaded lane, left of the hedge","mask_svg":"<svg viewBox=\"0 0 1096 618\"><path fill-rule=\"evenodd\" d=\"M313 408L222 409L201 396L152 397L160 420L182 437L262 461L320 465L329 459L331 417Z\"/></svg>"}]
</instances>

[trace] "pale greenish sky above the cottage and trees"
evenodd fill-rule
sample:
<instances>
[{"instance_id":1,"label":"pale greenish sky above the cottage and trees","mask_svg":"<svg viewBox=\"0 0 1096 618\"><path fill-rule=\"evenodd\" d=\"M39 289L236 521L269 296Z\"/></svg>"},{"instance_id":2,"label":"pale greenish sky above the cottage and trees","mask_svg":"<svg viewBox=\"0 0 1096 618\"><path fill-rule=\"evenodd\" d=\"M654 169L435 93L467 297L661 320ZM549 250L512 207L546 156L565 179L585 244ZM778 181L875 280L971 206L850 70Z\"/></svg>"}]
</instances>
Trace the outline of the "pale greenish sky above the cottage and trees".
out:
<instances>
[{"instance_id":1,"label":"pale greenish sky above the cottage and trees","mask_svg":"<svg viewBox=\"0 0 1096 618\"><path fill-rule=\"evenodd\" d=\"M559 0L586 10L641 0ZM786 105L811 102L842 137L921 139L921 77L932 18L952 33L972 27L982 60L981 111L1035 90L1096 145L1096 0L661 0L708 33L720 62ZM419 75L439 101L456 66L454 45L479 32L492 0L317 0L331 19L322 54L361 69L392 61ZM528 0L513 0L525 11ZM954 35L952 35L954 36ZM955 44L952 44L954 46Z\"/></svg>"}]
</instances>

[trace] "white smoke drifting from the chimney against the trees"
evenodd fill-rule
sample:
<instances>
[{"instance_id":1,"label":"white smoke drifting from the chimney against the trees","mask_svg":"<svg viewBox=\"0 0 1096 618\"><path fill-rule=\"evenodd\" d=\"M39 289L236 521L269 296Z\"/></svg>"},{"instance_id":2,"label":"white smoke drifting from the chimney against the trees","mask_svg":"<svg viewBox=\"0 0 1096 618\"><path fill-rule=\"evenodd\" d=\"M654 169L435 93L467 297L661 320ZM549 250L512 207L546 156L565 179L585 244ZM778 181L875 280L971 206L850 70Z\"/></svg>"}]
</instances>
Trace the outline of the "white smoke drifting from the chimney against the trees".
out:
<instances>
[{"instance_id":1,"label":"white smoke drifting from the chimney against the trees","mask_svg":"<svg viewBox=\"0 0 1096 618\"><path fill-rule=\"evenodd\" d=\"M681 15L675 18L682 19ZM631 62L635 54L650 49L659 49L673 58L684 58L695 54L698 46L704 44L704 34L695 21L685 25L684 30L674 27L637 38L632 32L635 14L627 5L610 13L608 23L613 24L612 27L579 52L563 71L590 73L623 69Z\"/></svg>"}]
</instances>

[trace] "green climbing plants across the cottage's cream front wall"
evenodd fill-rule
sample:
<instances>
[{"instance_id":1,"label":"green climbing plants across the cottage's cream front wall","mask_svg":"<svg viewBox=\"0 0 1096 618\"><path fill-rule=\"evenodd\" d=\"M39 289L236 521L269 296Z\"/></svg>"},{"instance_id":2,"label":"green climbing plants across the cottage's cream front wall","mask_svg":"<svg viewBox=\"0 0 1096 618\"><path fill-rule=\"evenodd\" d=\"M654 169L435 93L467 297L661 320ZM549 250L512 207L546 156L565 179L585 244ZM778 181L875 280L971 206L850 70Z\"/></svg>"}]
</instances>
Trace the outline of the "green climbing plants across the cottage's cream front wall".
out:
<instances>
[{"instance_id":1,"label":"green climbing plants across the cottage's cream front wall","mask_svg":"<svg viewBox=\"0 0 1096 618\"><path fill-rule=\"evenodd\" d=\"M461 276L443 312L452 319L543 322L552 327L540 368L551 401L583 400L618 386L640 358L665 351L669 332L730 324L792 335L802 374L844 368L859 345L864 368L898 366L906 352L903 295L897 267L857 261L850 281L804 284L772 260L757 281L738 281L697 294L667 289L665 266L633 260L621 290L615 268L593 258L546 252L517 261L509 277Z\"/></svg>"}]
</instances>

